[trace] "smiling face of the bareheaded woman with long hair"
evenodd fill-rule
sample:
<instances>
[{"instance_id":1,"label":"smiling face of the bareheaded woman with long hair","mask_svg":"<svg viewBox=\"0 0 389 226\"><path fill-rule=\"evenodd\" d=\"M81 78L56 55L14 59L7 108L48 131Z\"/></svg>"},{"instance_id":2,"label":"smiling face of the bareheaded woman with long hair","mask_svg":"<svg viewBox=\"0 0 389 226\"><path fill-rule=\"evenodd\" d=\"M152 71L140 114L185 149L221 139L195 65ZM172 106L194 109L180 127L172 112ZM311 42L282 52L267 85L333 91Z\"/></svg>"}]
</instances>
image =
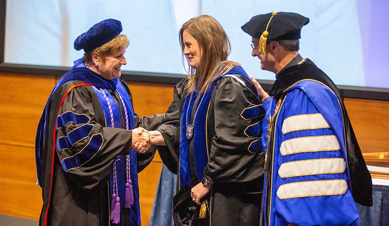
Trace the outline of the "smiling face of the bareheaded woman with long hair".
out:
<instances>
[{"instance_id":1,"label":"smiling face of the bareheaded woman with long hair","mask_svg":"<svg viewBox=\"0 0 389 226\"><path fill-rule=\"evenodd\" d=\"M192 68L199 69L203 51L198 45L197 40L187 30L184 30L182 33L182 41L184 43L184 55L188 57L189 64Z\"/></svg>"}]
</instances>

